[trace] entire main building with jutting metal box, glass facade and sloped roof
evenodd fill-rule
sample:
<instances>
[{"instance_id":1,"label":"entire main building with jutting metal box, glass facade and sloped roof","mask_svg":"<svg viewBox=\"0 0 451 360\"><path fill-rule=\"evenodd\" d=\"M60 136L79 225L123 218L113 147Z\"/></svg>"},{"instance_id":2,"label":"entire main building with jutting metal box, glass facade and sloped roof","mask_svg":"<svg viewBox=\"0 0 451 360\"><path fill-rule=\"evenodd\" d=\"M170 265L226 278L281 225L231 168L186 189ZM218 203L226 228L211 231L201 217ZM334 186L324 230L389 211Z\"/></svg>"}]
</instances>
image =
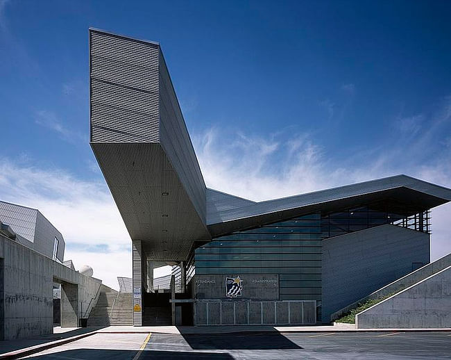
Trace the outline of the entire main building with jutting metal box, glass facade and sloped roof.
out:
<instances>
[{"instance_id":1,"label":"entire main building with jutting metal box, glass facade and sloped roof","mask_svg":"<svg viewBox=\"0 0 451 360\"><path fill-rule=\"evenodd\" d=\"M137 326L164 306L176 324L330 322L429 263L429 209L451 200L405 175L266 202L206 188L160 44L93 28L90 143L132 239Z\"/></svg>"}]
</instances>

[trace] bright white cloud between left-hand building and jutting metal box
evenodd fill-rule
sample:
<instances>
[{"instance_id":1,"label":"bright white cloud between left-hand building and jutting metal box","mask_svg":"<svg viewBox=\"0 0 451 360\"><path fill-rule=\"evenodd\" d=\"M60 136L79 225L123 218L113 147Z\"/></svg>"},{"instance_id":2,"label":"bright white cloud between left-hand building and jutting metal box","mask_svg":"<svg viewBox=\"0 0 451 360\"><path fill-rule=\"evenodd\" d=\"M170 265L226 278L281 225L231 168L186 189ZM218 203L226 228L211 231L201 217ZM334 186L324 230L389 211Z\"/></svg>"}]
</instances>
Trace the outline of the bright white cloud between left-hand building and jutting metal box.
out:
<instances>
[{"instance_id":1,"label":"bright white cloud between left-hand building and jutting metal box","mask_svg":"<svg viewBox=\"0 0 451 360\"><path fill-rule=\"evenodd\" d=\"M117 276L131 275L130 236L105 183L3 160L0 199L39 209L65 237L65 259L78 268L91 265L108 286L117 288ZM71 250L71 244L76 249ZM108 245L108 252L90 249L102 244Z\"/></svg>"}]
</instances>

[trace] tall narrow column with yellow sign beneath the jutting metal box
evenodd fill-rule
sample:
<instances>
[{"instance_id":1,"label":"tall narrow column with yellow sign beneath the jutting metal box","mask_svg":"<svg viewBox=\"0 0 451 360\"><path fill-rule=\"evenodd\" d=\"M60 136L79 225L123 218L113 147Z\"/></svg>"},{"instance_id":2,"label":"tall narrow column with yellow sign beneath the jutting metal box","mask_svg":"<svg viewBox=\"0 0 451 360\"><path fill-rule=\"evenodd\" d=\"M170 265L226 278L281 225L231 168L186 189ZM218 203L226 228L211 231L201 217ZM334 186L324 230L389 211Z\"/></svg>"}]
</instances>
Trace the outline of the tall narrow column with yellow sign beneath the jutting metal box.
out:
<instances>
[{"instance_id":1,"label":"tall narrow column with yellow sign beneath the jutting metal box","mask_svg":"<svg viewBox=\"0 0 451 360\"><path fill-rule=\"evenodd\" d=\"M133 240L132 243L133 326L142 326L142 294L144 293L144 284L146 284L143 281L144 254L141 240Z\"/></svg>"}]
</instances>

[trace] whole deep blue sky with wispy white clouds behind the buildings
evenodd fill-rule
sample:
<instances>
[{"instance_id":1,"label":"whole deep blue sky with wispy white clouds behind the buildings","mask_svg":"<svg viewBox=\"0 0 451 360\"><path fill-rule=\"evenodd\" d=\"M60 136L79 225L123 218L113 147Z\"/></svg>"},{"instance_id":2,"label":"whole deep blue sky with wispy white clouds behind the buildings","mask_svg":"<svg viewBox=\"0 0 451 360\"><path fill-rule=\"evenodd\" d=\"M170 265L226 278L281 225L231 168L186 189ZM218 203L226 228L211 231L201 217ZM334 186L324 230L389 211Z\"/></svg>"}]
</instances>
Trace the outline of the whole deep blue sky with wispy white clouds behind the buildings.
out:
<instances>
[{"instance_id":1,"label":"whole deep blue sky with wispy white clouds behind the buildings","mask_svg":"<svg viewBox=\"0 0 451 360\"><path fill-rule=\"evenodd\" d=\"M88 144L89 26L160 42L207 186L451 187L450 18L449 1L0 0L0 199L40 208L110 286L130 275ZM451 207L433 216L436 259Z\"/></svg>"}]
</instances>

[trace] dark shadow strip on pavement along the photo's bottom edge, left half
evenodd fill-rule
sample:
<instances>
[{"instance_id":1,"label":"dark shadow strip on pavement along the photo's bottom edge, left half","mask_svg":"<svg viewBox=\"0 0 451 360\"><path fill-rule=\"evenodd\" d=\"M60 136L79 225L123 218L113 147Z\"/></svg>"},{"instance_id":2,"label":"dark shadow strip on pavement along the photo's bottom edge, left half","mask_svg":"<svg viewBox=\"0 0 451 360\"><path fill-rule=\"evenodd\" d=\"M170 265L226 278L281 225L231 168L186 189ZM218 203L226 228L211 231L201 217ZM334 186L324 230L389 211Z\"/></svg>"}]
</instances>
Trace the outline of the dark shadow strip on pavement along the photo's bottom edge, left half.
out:
<instances>
[{"instance_id":1,"label":"dark shadow strip on pavement along the photo's bottom edge, left half","mask_svg":"<svg viewBox=\"0 0 451 360\"><path fill-rule=\"evenodd\" d=\"M137 354L133 350L94 350L78 349L58 352L60 359L86 359L86 360L110 360L110 359L133 359ZM57 354L55 354L57 355ZM51 355L50 355L51 356ZM33 359L47 359L49 355L40 355ZM233 357L221 352L175 352L175 351L148 351L142 352L139 360L142 359L214 359L232 360Z\"/></svg>"}]
</instances>

